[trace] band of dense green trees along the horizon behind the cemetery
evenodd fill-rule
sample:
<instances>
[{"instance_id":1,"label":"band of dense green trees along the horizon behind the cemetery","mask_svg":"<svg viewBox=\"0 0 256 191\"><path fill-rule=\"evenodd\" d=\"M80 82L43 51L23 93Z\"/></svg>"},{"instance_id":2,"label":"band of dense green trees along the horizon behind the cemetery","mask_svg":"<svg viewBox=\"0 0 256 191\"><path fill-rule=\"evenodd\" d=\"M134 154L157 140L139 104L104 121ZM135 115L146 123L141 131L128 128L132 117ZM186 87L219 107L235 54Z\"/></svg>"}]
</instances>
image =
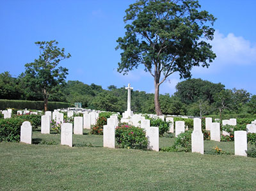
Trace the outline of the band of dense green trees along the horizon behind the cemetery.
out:
<instances>
[{"instance_id":1,"label":"band of dense green trees along the horizon behind the cemetery","mask_svg":"<svg viewBox=\"0 0 256 191\"><path fill-rule=\"evenodd\" d=\"M221 83L214 84L202 79L179 82L174 95L160 95L164 114L220 115L256 114L256 95L244 89L225 89ZM0 99L44 100L40 92L29 88L22 75L14 78L8 72L0 73ZM154 94L132 91L131 109L134 112L154 113ZM56 87L49 96L51 102L81 102L84 108L124 112L127 108L127 90L111 85L108 89L96 84L84 84L69 80L64 88Z\"/></svg>"}]
</instances>

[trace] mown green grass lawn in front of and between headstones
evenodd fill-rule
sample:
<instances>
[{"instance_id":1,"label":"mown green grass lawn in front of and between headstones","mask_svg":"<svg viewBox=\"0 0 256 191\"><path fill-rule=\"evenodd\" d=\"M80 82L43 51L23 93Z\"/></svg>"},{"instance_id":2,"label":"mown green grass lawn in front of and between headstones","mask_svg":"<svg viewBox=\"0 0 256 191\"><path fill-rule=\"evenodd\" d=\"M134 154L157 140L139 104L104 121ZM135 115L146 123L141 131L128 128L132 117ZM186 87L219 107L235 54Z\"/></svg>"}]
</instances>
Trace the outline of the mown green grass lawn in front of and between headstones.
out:
<instances>
[{"instance_id":1,"label":"mown green grass lawn in front of and between headstones","mask_svg":"<svg viewBox=\"0 0 256 191\"><path fill-rule=\"evenodd\" d=\"M36 130L32 145L0 142L0 190L256 189L256 158L108 149L87 130L73 140L74 148L61 146L60 134ZM160 148L173 141L161 137ZM204 143L234 154L234 142Z\"/></svg>"}]
</instances>

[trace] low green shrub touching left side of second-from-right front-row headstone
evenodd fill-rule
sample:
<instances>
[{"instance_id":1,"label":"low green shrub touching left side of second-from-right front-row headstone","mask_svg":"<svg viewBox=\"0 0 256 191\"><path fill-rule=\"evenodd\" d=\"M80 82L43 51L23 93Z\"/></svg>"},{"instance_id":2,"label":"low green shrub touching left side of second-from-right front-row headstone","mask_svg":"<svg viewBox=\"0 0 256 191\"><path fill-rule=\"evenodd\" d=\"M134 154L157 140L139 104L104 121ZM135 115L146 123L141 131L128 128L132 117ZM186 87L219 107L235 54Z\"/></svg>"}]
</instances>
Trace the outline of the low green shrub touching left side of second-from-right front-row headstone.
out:
<instances>
[{"instance_id":1,"label":"low green shrub touching left side of second-from-right front-row headstone","mask_svg":"<svg viewBox=\"0 0 256 191\"><path fill-rule=\"evenodd\" d=\"M173 149L176 151L191 152L191 134L192 130L179 134L178 137L175 138Z\"/></svg>"}]
</instances>

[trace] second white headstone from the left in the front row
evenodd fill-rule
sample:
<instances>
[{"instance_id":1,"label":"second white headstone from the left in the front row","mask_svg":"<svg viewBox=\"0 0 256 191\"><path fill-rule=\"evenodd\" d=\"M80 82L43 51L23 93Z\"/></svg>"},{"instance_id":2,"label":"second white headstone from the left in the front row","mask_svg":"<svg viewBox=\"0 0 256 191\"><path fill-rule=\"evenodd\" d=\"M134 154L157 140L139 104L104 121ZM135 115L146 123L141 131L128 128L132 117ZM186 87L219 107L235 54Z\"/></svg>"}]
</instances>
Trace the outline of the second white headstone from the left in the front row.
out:
<instances>
[{"instance_id":1,"label":"second white headstone from the left in the front row","mask_svg":"<svg viewBox=\"0 0 256 191\"><path fill-rule=\"evenodd\" d=\"M72 147L73 146L73 127L72 123L61 124L61 144Z\"/></svg>"}]
</instances>

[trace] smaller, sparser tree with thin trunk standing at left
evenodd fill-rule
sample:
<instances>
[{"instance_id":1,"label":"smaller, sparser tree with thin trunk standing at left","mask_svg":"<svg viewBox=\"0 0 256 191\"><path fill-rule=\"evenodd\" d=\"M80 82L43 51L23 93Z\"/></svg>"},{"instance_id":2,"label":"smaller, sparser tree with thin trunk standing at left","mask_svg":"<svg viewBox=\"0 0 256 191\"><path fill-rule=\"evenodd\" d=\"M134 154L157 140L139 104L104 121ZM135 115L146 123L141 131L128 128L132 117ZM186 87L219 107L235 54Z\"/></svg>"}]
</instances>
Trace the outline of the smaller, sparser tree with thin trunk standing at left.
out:
<instances>
[{"instance_id":1,"label":"smaller, sparser tree with thin trunk standing at left","mask_svg":"<svg viewBox=\"0 0 256 191\"><path fill-rule=\"evenodd\" d=\"M40 91L44 96L44 109L47 111L49 95L58 91L65 84L68 69L58 66L60 61L70 57L65 49L60 49L56 40L50 42L35 42L39 46L40 55L33 63L25 65L25 78L33 91Z\"/></svg>"}]
</instances>

